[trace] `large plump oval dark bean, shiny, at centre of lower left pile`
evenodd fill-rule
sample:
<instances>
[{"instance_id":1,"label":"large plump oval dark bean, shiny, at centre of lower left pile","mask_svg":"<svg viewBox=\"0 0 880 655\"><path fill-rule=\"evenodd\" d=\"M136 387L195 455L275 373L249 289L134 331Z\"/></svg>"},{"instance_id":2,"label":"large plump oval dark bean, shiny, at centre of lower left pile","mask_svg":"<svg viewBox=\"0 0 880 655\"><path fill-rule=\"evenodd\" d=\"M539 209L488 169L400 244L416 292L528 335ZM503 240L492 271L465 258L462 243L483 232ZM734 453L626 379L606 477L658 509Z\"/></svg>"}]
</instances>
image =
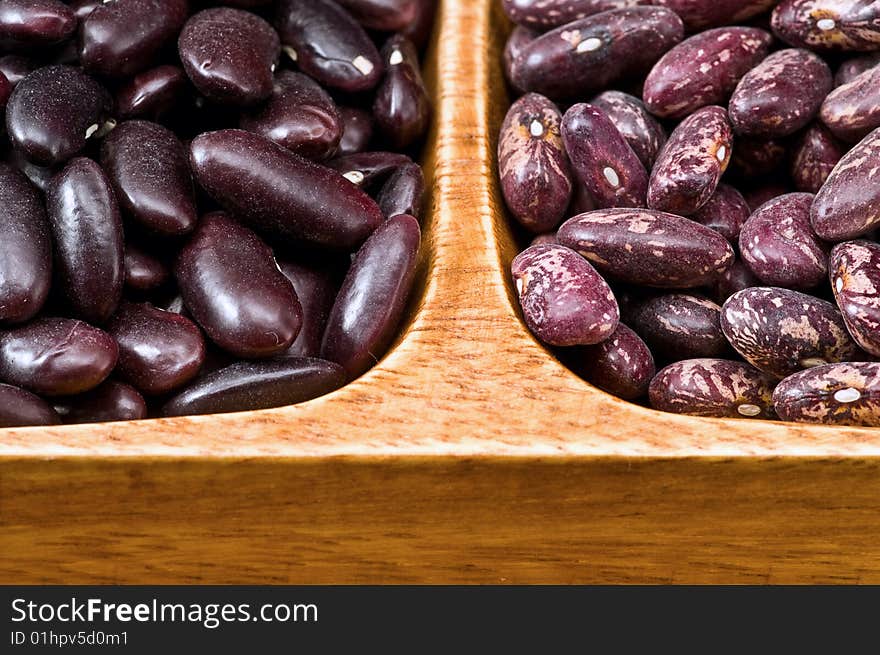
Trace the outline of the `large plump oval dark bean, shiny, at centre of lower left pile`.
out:
<instances>
[{"instance_id":1,"label":"large plump oval dark bean, shiny, at centre of lower left pile","mask_svg":"<svg viewBox=\"0 0 880 655\"><path fill-rule=\"evenodd\" d=\"M278 355L299 333L302 308L272 251L222 212L202 217L174 274L195 321L233 355Z\"/></svg>"}]
</instances>

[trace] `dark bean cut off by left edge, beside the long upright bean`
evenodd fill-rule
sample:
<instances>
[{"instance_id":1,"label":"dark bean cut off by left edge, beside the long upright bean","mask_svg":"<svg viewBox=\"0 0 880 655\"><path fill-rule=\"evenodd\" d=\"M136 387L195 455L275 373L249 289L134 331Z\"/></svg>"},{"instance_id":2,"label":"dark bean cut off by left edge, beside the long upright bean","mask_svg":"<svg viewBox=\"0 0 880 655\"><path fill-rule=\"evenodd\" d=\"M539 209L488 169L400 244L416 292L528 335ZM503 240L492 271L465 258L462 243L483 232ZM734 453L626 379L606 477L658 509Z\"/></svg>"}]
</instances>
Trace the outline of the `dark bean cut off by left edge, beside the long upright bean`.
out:
<instances>
[{"instance_id":1,"label":"dark bean cut off by left edge, beside the long upright bean","mask_svg":"<svg viewBox=\"0 0 880 655\"><path fill-rule=\"evenodd\" d=\"M0 323L18 323L43 307L52 282L52 242L39 193L0 163Z\"/></svg>"}]
</instances>

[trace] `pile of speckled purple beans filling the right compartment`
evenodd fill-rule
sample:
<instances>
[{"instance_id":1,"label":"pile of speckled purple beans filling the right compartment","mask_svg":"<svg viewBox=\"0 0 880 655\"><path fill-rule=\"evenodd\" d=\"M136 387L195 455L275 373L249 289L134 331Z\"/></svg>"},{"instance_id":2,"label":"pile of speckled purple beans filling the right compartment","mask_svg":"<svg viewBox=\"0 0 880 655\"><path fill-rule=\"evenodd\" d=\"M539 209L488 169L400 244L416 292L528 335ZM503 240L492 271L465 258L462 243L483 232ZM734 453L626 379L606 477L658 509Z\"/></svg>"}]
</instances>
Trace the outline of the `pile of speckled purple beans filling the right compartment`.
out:
<instances>
[{"instance_id":1,"label":"pile of speckled purple beans filling the right compartment","mask_svg":"<svg viewBox=\"0 0 880 655\"><path fill-rule=\"evenodd\" d=\"M656 409L880 425L880 3L501 1L535 336Z\"/></svg>"}]
</instances>

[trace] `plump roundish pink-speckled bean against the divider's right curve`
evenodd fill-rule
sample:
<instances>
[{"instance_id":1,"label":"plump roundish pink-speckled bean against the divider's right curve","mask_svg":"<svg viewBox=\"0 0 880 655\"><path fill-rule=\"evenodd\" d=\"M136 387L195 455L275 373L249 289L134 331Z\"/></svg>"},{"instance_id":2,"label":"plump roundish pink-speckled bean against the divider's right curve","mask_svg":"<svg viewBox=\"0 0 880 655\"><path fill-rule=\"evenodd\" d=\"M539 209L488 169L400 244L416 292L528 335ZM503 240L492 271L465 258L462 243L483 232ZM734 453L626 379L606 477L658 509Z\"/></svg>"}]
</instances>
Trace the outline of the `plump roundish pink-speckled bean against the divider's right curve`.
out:
<instances>
[{"instance_id":1,"label":"plump roundish pink-speckled bean against the divider's right curve","mask_svg":"<svg viewBox=\"0 0 880 655\"><path fill-rule=\"evenodd\" d=\"M553 346L592 345L620 321L614 293L595 268L570 248L526 248L511 264L526 325Z\"/></svg>"}]
</instances>

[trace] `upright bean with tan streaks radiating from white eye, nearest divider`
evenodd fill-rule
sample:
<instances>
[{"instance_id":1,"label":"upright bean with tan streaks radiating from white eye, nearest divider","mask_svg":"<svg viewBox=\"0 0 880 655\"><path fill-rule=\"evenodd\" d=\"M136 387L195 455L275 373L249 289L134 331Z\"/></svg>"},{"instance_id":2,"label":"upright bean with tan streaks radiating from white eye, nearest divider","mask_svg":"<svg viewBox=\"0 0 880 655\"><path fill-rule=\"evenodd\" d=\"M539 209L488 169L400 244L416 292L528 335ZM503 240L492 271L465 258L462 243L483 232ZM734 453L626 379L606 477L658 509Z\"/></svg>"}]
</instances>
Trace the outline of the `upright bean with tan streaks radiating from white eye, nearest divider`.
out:
<instances>
[{"instance_id":1,"label":"upright bean with tan streaks radiating from white eye, nearest divider","mask_svg":"<svg viewBox=\"0 0 880 655\"><path fill-rule=\"evenodd\" d=\"M555 228L568 208L572 175L556 105L528 93L511 105L498 137L498 174L510 213L531 232ZM535 202L540 198L540 202Z\"/></svg>"}]
</instances>

